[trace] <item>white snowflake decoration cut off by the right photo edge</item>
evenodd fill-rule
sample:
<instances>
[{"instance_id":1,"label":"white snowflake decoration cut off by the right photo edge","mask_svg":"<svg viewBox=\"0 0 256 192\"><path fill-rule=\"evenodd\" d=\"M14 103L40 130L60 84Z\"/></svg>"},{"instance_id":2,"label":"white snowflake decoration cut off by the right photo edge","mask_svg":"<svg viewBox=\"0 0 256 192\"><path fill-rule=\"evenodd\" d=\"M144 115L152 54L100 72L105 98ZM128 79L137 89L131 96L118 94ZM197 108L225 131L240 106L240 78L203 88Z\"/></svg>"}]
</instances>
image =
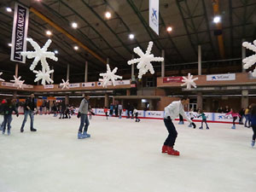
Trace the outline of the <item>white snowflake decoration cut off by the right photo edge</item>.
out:
<instances>
[{"instance_id":1,"label":"white snowflake decoration cut off by the right photo edge","mask_svg":"<svg viewBox=\"0 0 256 192\"><path fill-rule=\"evenodd\" d=\"M242 62L245 63L243 65L243 67L245 69L248 69L249 67L252 67L254 65L254 63L256 62L256 40L253 41L253 44L250 44L248 42L244 42L244 43L242 43L242 46L247 48L247 49L253 50L253 52L255 53L254 55L247 56L246 58L244 58L242 60ZM252 74L253 74L253 77L256 77L256 67L254 68Z\"/></svg>"}]
</instances>

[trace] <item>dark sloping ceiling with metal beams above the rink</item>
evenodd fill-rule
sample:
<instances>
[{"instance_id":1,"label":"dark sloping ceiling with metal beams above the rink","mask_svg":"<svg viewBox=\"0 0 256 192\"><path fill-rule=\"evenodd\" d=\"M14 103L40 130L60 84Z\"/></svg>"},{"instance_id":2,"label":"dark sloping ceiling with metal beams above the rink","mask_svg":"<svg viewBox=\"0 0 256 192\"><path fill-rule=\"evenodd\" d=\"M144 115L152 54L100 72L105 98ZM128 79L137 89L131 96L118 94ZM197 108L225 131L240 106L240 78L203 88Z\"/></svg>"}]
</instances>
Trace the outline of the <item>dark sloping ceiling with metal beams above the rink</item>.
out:
<instances>
[{"instance_id":1,"label":"dark sloping ceiling with metal beams above the rink","mask_svg":"<svg viewBox=\"0 0 256 192\"><path fill-rule=\"evenodd\" d=\"M202 61L216 61L241 58L241 41L253 41L256 38L256 2L255 0L224 0L219 1L222 16L222 33L224 38L224 57L219 54L218 38L214 35L217 26L213 19L213 0L160 0L160 35L157 36L148 26L148 0L20 0L0 3L0 71L5 78L15 73L15 62L9 61L13 14L5 8L14 9L15 2L40 13L61 26L73 37L100 55L110 60L111 67L119 67L119 73L131 73L132 49L140 46L145 50L148 41L154 42L154 55L166 53L166 65L182 66L184 63L197 61L197 47L201 44ZM105 12L112 14L107 20ZM71 22L79 27L73 29ZM166 26L172 26L172 32L166 32ZM51 50L57 49L59 61L49 61L55 69L55 83L66 77L67 64L70 64L70 81L84 79L84 63L89 61L89 80L98 79L98 73L106 70L102 61L87 53L84 49L73 49L75 43L65 34L49 26L44 20L30 12L28 37L43 46L49 37L45 31L50 30L53 43ZM135 38L128 38L133 33ZM28 45L28 50L32 47ZM136 56L136 55L135 55ZM32 83L34 73L30 72L29 64L19 65L19 75L26 76ZM154 64L156 67L160 63Z\"/></svg>"}]
</instances>

